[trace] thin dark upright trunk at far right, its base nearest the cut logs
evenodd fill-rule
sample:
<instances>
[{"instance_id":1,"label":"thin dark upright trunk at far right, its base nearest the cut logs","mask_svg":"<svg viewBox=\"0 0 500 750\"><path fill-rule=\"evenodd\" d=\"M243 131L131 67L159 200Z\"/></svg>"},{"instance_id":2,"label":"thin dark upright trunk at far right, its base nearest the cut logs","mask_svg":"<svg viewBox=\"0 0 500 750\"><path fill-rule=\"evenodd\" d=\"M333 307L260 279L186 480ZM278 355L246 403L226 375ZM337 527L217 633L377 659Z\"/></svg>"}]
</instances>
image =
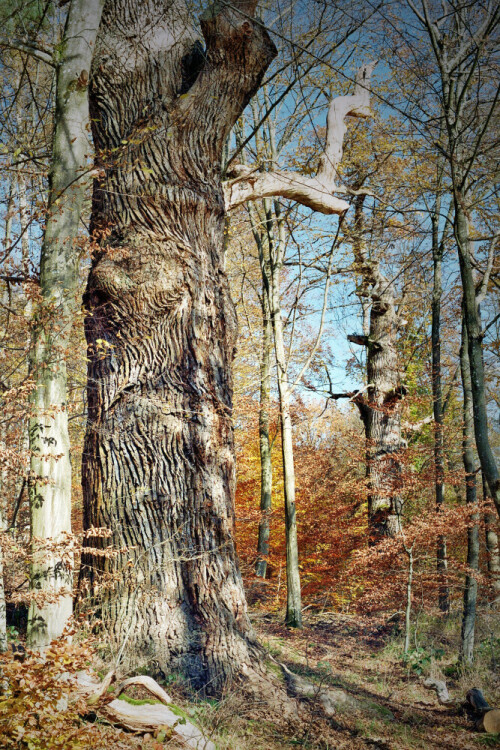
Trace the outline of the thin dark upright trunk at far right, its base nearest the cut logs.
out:
<instances>
[{"instance_id":1,"label":"thin dark upright trunk at far right, its base nearest the cut logs","mask_svg":"<svg viewBox=\"0 0 500 750\"><path fill-rule=\"evenodd\" d=\"M460 347L460 370L463 388L463 462L465 470L465 497L467 505L477 505L476 470L474 460L474 418L472 412L472 383L469 363L467 327L462 320L462 345ZM479 570L479 516L473 515L474 525L467 529L467 566ZM460 643L460 659L466 664L474 660L474 629L476 624L478 584L474 575L465 578L464 609Z\"/></svg>"}]
</instances>

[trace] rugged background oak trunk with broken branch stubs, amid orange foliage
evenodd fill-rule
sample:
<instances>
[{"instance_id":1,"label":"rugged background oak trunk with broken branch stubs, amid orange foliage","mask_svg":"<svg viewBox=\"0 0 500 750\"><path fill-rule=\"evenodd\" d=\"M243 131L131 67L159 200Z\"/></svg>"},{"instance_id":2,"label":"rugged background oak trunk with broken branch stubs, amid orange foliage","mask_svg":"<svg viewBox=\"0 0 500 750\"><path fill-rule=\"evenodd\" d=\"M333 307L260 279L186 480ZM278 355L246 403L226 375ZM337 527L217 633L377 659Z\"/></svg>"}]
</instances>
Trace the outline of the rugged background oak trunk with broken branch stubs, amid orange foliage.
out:
<instances>
[{"instance_id":1,"label":"rugged background oak trunk with broken branch stubs, amid orange foliage","mask_svg":"<svg viewBox=\"0 0 500 750\"><path fill-rule=\"evenodd\" d=\"M369 297L368 336L348 336L349 341L366 347L367 388L354 400L363 421L366 437L366 475L369 485L368 523L371 543L401 530L401 451L406 443L401 435L401 385L396 336L398 316L391 284L380 272L378 262L369 258L363 239L364 196L355 200L354 255L361 274L360 297Z\"/></svg>"}]
</instances>

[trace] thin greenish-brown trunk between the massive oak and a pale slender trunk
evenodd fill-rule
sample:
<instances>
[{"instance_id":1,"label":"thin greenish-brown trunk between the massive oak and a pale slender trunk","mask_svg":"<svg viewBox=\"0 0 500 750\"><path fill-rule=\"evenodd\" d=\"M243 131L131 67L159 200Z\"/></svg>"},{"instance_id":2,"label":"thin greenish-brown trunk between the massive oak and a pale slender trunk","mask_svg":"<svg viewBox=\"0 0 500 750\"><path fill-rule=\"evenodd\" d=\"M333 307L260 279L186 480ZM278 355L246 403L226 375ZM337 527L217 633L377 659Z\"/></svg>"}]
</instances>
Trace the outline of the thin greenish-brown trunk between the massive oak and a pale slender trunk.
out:
<instances>
[{"instance_id":1,"label":"thin greenish-brown trunk between the massive oak and a pale slender trunk","mask_svg":"<svg viewBox=\"0 0 500 750\"><path fill-rule=\"evenodd\" d=\"M269 555L269 515L272 506L273 464L269 440L269 405L271 399L272 320L269 297L265 285L262 289L262 354L260 370L259 447L260 447L260 511L257 562L255 573L266 577Z\"/></svg>"}]
</instances>

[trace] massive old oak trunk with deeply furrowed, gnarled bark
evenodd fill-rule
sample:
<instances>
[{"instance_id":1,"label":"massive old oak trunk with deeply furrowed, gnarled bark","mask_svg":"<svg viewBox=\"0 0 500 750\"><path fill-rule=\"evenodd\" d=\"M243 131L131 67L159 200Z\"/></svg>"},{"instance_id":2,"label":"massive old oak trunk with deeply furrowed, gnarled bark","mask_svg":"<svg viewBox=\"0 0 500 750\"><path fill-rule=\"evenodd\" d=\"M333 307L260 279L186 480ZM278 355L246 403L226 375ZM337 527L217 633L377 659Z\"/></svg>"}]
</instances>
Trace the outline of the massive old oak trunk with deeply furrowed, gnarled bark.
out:
<instances>
[{"instance_id":1,"label":"massive old oak trunk with deeply furrowed, gnarled bark","mask_svg":"<svg viewBox=\"0 0 500 750\"><path fill-rule=\"evenodd\" d=\"M254 658L233 531L231 361L221 154L275 49L254 3L207 11L108 0L91 76L103 233L86 292L85 525L101 613L134 662L216 693ZM98 537L91 543L99 547ZM126 549L125 549L126 548Z\"/></svg>"}]
</instances>

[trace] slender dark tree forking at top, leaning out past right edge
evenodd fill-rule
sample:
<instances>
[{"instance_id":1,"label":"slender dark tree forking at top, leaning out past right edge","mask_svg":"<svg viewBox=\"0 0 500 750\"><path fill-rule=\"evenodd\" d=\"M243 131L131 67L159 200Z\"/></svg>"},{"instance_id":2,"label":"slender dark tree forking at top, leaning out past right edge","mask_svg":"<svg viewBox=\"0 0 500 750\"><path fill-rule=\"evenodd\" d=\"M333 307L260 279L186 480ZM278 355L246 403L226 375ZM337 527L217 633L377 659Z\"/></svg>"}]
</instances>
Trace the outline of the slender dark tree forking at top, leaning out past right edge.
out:
<instances>
[{"instance_id":1,"label":"slender dark tree forking at top, leaning out past right edge","mask_svg":"<svg viewBox=\"0 0 500 750\"><path fill-rule=\"evenodd\" d=\"M498 106L497 97L491 97L484 86L488 76L485 78L482 73L489 70L492 56L496 53L495 32L500 15L496 4L478 6L458 2L448 4L446 12L437 21L432 14L435 9L431 9L427 3L417 5L411 3L410 8L428 36L429 51L432 51L437 63L438 83L435 90L439 93L446 143L442 154L448 162L453 190L453 228L469 342L476 449L483 476L500 516L500 473L489 436L483 332L476 303L473 247L469 231L469 221L478 208L472 197L477 179L477 160L482 149L489 148L485 145L485 136ZM472 102L475 103L474 108ZM434 117L433 126L435 123Z\"/></svg>"}]
</instances>

